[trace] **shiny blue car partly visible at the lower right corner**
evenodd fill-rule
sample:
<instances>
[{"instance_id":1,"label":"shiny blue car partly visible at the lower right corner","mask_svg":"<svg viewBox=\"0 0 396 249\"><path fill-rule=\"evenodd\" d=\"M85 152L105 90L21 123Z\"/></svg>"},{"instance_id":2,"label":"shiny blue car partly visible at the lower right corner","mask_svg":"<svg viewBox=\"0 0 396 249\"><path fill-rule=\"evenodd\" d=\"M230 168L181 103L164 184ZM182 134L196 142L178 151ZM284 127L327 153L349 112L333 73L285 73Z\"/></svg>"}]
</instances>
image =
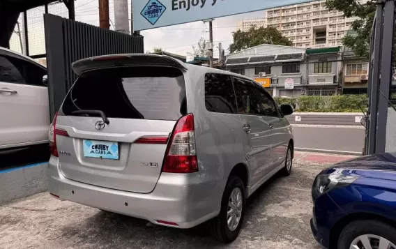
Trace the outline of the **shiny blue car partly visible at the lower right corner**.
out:
<instances>
[{"instance_id":1,"label":"shiny blue car partly visible at the lower right corner","mask_svg":"<svg viewBox=\"0 0 396 249\"><path fill-rule=\"evenodd\" d=\"M311 229L323 248L396 249L396 153L323 170L312 200Z\"/></svg>"}]
</instances>

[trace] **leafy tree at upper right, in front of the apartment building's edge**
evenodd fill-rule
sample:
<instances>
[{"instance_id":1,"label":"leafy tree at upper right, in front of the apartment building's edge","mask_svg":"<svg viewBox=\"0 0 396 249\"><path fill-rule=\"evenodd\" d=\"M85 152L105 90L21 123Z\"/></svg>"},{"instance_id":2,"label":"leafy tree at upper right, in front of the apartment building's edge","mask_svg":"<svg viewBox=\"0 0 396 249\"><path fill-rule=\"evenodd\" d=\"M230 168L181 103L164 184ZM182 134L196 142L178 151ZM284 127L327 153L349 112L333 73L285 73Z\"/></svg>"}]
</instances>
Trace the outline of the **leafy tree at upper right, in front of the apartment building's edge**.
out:
<instances>
[{"instance_id":1,"label":"leafy tree at upper right, in front of the apartment building's edge","mask_svg":"<svg viewBox=\"0 0 396 249\"><path fill-rule=\"evenodd\" d=\"M342 43L351 47L356 56L367 58L370 54L370 33L374 22L376 1L369 0L362 5L357 0L327 0L326 6L329 10L342 11L347 18L359 17L352 23L352 30L356 35L344 36Z\"/></svg>"}]
</instances>

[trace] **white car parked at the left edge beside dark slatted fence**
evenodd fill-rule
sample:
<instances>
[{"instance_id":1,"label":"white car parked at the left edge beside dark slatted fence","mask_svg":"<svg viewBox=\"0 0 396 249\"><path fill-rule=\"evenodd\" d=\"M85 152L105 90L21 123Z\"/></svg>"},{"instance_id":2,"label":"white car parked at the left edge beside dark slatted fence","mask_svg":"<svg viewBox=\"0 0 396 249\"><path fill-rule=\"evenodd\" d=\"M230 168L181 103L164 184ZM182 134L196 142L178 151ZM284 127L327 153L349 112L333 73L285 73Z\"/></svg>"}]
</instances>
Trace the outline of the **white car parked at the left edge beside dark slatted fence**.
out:
<instances>
[{"instance_id":1,"label":"white car parked at the left edge beside dark slatted fence","mask_svg":"<svg viewBox=\"0 0 396 249\"><path fill-rule=\"evenodd\" d=\"M0 47L0 151L48 143L45 66Z\"/></svg>"}]
</instances>

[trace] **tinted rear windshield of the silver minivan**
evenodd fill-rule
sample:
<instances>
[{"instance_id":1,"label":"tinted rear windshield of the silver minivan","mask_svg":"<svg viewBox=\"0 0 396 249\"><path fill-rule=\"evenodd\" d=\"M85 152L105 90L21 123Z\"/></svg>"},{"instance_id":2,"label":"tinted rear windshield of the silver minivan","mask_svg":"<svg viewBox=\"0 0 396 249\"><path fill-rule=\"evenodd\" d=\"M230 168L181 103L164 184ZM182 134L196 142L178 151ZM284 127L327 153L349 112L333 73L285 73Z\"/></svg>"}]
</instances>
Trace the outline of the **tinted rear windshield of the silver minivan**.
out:
<instances>
[{"instance_id":1,"label":"tinted rear windshield of the silver minivan","mask_svg":"<svg viewBox=\"0 0 396 249\"><path fill-rule=\"evenodd\" d=\"M98 110L108 118L177 120L187 114L185 84L176 68L93 70L81 75L62 106L66 116ZM79 114L81 116L81 114Z\"/></svg>"}]
</instances>

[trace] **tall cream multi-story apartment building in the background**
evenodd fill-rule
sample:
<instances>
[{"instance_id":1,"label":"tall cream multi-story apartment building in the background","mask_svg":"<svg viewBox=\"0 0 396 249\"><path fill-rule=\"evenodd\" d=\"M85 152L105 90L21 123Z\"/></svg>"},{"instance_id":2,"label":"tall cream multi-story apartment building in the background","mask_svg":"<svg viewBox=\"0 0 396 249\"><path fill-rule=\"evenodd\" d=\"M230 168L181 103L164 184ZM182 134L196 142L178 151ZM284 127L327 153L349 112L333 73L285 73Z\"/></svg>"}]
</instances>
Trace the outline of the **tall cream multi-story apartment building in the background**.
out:
<instances>
[{"instance_id":1,"label":"tall cream multi-story apartment building in the background","mask_svg":"<svg viewBox=\"0 0 396 249\"><path fill-rule=\"evenodd\" d=\"M276 27L295 47L342 46L342 38L356 17L347 18L340 11L330 11L325 3L326 0L322 0L271 8L266 10L266 18L241 21L238 29L248 31L254 25L264 24L264 27Z\"/></svg>"}]
</instances>

